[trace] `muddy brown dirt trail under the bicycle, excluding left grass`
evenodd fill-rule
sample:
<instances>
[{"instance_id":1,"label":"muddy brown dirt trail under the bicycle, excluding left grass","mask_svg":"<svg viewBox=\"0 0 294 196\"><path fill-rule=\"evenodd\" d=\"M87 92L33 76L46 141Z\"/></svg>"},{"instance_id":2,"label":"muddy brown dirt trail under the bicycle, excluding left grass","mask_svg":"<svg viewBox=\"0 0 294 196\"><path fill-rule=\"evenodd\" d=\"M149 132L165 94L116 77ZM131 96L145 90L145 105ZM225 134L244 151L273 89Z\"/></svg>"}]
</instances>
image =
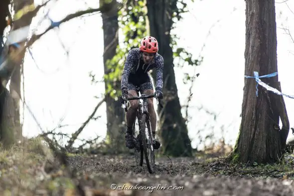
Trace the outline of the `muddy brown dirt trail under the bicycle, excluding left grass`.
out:
<instances>
[{"instance_id":1,"label":"muddy brown dirt trail under the bicycle, excluding left grass","mask_svg":"<svg viewBox=\"0 0 294 196\"><path fill-rule=\"evenodd\" d=\"M165 157L157 158L156 161L155 174L150 175L146 164L142 167L135 166L133 156L97 155L69 158L73 169L88 174L92 179L89 187L99 190L103 187L108 190L104 193L108 194L111 193L109 192L111 186L113 188L115 186L136 188L137 186L136 190L125 192L125 194L133 196L294 196L294 181L283 180L283 175L279 176L282 171L269 172L274 172L277 178L250 178L236 175L236 173L233 176L240 177L230 177L212 175L217 174L215 171L220 169L228 172L231 170L229 167L216 163L203 166L201 160L197 158L169 159ZM252 174L258 176L259 172ZM103 194L98 193L98 195Z\"/></svg>"}]
</instances>

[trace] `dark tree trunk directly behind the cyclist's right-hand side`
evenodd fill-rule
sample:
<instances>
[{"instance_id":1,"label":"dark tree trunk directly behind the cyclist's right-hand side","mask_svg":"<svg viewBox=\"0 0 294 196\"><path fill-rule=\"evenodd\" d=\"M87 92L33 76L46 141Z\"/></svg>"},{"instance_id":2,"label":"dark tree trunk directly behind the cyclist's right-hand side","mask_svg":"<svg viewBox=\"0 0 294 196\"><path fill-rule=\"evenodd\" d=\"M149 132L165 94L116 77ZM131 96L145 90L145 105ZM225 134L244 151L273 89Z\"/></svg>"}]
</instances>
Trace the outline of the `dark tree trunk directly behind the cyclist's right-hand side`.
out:
<instances>
[{"instance_id":1,"label":"dark tree trunk directly behind the cyclist's right-hand side","mask_svg":"<svg viewBox=\"0 0 294 196\"><path fill-rule=\"evenodd\" d=\"M187 126L181 114L181 106L177 95L177 86L173 70L173 52L170 47L170 29L172 10L176 8L176 0L147 0L150 35L158 40L158 53L164 58L163 95L165 106L158 107L160 118L160 135L163 153L170 156L191 156L191 141ZM155 71L152 73L156 81Z\"/></svg>"}]
</instances>

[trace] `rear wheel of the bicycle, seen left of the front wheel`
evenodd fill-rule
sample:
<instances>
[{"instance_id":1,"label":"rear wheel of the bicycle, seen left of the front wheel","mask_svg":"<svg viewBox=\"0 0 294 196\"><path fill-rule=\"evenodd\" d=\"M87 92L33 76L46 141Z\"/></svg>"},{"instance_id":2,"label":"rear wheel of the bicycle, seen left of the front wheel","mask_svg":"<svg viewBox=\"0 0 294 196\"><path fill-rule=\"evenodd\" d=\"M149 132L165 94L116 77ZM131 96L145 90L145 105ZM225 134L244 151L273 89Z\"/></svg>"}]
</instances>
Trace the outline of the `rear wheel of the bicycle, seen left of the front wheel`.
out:
<instances>
[{"instance_id":1,"label":"rear wheel of the bicycle, seen left of the front wheel","mask_svg":"<svg viewBox=\"0 0 294 196\"><path fill-rule=\"evenodd\" d=\"M136 117L136 121L133 124L133 134L134 134L134 141L136 142L135 145L135 162L137 166L143 165L143 145L142 145L142 139L140 135L140 125L138 121L138 115ZM139 147L139 148L138 148Z\"/></svg>"}]
</instances>

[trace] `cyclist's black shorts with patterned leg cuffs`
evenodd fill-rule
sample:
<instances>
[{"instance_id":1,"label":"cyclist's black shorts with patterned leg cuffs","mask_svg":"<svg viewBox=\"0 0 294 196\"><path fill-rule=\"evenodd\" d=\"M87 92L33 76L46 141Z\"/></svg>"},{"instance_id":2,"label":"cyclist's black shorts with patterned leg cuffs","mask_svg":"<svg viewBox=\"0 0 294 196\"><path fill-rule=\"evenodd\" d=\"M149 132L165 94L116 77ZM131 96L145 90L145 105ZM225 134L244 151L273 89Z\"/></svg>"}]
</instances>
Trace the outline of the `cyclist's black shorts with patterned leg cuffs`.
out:
<instances>
[{"instance_id":1,"label":"cyclist's black shorts with patterned leg cuffs","mask_svg":"<svg viewBox=\"0 0 294 196\"><path fill-rule=\"evenodd\" d=\"M151 78L148 73L136 75L131 73L129 76L128 90L137 90L137 87L140 87L141 93L146 90L153 90L153 85Z\"/></svg>"}]
</instances>

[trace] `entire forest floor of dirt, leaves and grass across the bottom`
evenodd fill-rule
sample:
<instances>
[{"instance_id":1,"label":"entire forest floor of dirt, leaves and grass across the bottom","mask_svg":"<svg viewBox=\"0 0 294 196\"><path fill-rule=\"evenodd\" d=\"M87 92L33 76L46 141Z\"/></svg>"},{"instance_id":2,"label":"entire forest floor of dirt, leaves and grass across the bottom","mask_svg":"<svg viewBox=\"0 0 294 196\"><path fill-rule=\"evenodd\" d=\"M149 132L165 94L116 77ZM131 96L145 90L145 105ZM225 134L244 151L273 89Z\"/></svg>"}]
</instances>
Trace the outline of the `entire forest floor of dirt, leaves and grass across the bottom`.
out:
<instances>
[{"instance_id":1,"label":"entire forest floor of dirt, leaves and grass across the bottom","mask_svg":"<svg viewBox=\"0 0 294 196\"><path fill-rule=\"evenodd\" d=\"M62 167L49 152L36 149L1 151L0 195L294 196L292 155L274 165L160 157L151 175L145 163L135 165L133 155L69 154L67 161Z\"/></svg>"}]
</instances>

